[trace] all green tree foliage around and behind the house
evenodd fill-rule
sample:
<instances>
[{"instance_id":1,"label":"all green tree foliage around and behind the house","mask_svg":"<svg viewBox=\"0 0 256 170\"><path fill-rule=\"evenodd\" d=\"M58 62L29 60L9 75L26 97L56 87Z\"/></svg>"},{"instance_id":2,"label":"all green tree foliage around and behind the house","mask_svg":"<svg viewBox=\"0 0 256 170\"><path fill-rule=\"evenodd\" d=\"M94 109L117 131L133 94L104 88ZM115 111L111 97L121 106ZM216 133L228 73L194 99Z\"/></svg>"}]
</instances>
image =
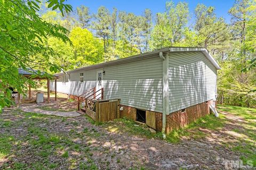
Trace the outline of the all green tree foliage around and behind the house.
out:
<instances>
[{"instance_id":1,"label":"all green tree foliage around and behind the house","mask_svg":"<svg viewBox=\"0 0 256 170\"><path fill-rule=\"evenodd\" d=\"M60 66L70 70L168 46L207 48L222 67L218 71L218 102L256 107L255 0L235 1L228 11L230 23L217 17L213 6L198 4L190 13L185 2L166 2L165 11L156 17L150 9L135 15L101 6L97 13L90 13L89 7L81 5L69 12L70 6L63 0L39 6L41 1L29 2L0 4L4 7L0 57L6 58L0 63L0 107L10 105L3 97L10 96L6 88L10 77L9 86L18 91L26 91L27 83L35 84L19 77L17 67L30 66L46 73L49 67L50 71L58 71ZM6 11L12 3L21 4L24 10L14 5Z\"/></svg>"}]
</instances>

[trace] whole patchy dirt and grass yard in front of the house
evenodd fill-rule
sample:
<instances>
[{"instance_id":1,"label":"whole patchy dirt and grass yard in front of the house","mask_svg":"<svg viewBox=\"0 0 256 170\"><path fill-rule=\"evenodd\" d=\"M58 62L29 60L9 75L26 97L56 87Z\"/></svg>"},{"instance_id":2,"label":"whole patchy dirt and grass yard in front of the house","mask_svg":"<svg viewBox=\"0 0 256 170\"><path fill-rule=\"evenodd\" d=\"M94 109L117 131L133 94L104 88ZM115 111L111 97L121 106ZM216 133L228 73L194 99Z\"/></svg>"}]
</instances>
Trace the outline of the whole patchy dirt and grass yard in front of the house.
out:
<instances>
[{"instance_id":1,"label":"whole patchy dirt and grass yard in front of the house","mask_svg":"<svg viewBox=\"0 0 256 170\"><path fill-rule=\"evenodd\" d=\"M256 109L219 111L163 140L125 118L95 124L8 108L0 114L0 169L233 169L236 160L255 168Z\"/></svg>"}]
</instances>

